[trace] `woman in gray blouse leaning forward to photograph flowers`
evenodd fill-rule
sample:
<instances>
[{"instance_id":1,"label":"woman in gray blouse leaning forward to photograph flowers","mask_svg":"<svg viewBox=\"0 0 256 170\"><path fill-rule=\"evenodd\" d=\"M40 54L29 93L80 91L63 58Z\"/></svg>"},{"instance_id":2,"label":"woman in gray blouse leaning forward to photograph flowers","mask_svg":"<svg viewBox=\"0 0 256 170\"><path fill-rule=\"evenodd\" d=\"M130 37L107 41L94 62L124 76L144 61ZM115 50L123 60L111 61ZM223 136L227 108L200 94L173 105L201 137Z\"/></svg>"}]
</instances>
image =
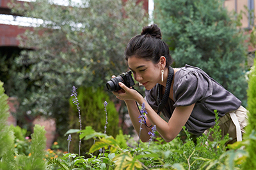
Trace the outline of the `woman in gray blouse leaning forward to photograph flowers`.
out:
<instances>
[{"instance_id":1,"label":"woman in gray blouse leaning forward to photograph flowers","mask_svg":"<svg viewBox=\"0 0 256 170\"><path fill-rule=\"evenodd\" d=\"M136 102L145 103L147 122L141 130L141 141L150 139L150 125L156 125L167 142L172 141L184 125L189 132L199 136L214 126L214 110L221 117L222 134L228 133L232 138L230 143L241 140L246 125L246 109L241 101L198 67L170 67L172 57L156 24L143 27L141 34L129 41L125 59L134 79L145 87L146 96L144 98L121 82L122 90L113 94L125 101L137 133L140 132L140 112ZM168 122L159 116L160 111Z\"/></svg>"}]
</instances>

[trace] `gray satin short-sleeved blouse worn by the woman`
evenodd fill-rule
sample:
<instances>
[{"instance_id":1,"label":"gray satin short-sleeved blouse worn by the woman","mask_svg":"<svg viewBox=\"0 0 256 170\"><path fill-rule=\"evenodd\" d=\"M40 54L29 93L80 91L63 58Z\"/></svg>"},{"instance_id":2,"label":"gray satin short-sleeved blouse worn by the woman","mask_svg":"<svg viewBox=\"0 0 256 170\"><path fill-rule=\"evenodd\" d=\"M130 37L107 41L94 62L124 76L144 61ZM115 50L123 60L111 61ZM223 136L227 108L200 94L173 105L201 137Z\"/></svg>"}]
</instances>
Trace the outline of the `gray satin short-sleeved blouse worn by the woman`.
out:
<instances>
[{"instance_id":1,"label":"gray satin short-sleeved blouse worn by the woman","mask_svg":"<svg viewBox=\"0 0 256 170\"><path fill-rule=\"evenodd\" d=\"M157 84L151 90L145 90L145 99L150 106L157 110ZM160 94L160 101L163 94ZM224 89L217 81L208 76L198 67L181 67L175 73L173 84L173 98L168 98L162 111L166 118L172 117L173 110L177 106L189 106L195 103L195 107L186 122L186 128L192 134L202 134L215 124L214 110L218 111L219 117L225 113L237 110L241 101L236 96Z\"/></svg>"}]
</instances>

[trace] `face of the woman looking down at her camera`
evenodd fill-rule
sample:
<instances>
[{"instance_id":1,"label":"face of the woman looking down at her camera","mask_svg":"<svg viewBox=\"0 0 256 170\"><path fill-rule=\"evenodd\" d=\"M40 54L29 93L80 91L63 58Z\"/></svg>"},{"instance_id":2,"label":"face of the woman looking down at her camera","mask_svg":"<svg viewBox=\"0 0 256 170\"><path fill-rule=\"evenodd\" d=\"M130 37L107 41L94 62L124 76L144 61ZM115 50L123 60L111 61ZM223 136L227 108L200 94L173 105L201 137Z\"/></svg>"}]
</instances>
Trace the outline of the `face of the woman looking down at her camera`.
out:
<instances>
[{"instance_id":1,"label":"face of the woman looking down at her camera","mask_svg":"<svg viewBox=\"0 0 256 170\"><path fill-rule=\"evenodd\" d=\"M160 64L154 64L151 60L140 59L136 56L129 57L127 62L134 79L145 89L150 90L156 83L161 82Z\"/></svg>"}]
</instances>

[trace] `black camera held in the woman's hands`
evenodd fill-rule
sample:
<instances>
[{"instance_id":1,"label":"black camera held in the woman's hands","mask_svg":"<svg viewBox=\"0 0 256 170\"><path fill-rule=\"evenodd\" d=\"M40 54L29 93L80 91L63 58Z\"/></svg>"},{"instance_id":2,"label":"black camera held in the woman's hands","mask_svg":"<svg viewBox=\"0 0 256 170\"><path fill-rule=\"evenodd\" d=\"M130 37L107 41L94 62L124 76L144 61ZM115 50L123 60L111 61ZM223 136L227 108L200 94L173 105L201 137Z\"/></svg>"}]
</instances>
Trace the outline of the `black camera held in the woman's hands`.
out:
<instances>
[{"instance_id":1,"label":"black camera held in the woman's hands","mask_svg":"<svg viewBox=\"0 0 256 170\"><path fill-rule=\"evenodd\" d=\"M127 87L132 87L135 85L132 79L132 71L127 71L126 73L122 73L115 78L111 78L111 80L109 80L106 84L109 92L116 92L121 90L122 88L118 85L119 82L124 83L124 85Z\"/></svg>"}]
</instances>

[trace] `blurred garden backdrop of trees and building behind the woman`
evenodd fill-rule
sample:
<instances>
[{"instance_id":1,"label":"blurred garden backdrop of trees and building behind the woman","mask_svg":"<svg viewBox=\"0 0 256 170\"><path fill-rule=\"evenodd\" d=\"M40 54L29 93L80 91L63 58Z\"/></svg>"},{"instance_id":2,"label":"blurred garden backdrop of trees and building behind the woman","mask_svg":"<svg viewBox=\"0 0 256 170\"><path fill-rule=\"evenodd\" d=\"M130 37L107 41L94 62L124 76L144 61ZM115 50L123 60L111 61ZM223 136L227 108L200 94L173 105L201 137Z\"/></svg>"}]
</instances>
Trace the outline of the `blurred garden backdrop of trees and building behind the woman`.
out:
<instances>
[{"instance_id":1,"label":"blurred garden backdrop of trees and building behind the woman","mask_svg":"<svg viewBox=\"0 0 256 170\"><path fill-rule=\"evenodd\" d=\"M106 90L111 75L128 70L124 49L145 25L159 25L173 67L200 67L246 107L247 74L255 58L254 0L0 0L0 80L9 96L8 124L40 124L47 146L67 150L68 129L136 136L124 102ZM143 94L138 84L135 88ZM78 136L74 136L74 143ZM93 141L83 144L83 152ZM56 146L55 146L56 147ZM71 148L77 152L77 147Z\"/></svg>"}]
</instances>

